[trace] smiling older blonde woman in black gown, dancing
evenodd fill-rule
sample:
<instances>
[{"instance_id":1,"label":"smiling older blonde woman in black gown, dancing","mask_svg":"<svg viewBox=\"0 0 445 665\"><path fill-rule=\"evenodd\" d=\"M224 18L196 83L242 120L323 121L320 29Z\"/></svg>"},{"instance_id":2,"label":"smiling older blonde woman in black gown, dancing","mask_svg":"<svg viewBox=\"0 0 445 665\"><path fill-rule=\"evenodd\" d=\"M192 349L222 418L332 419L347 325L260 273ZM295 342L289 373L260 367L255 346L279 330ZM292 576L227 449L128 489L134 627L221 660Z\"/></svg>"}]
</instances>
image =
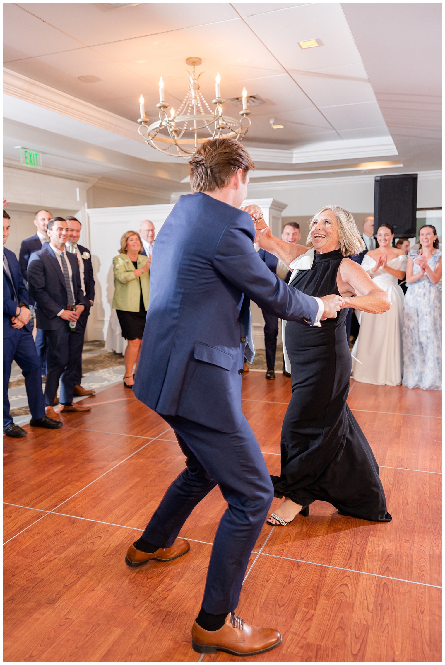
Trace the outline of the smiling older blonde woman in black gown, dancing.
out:
<instances>
[{"instance_id":1,"label":"smiling older blonde woman in black gown, dancing","mask_svg":"<svg viewBox=\"0 0 445 665\"><path fill-rule=\"evenodd\" d=\"M322 320L321 327L286 324L292 398L282 427L281 475L272 475L275 496L284 501L268 524L286 525L300 512L308 515L317 500L328 501L342 515L391 521L379 466L346 403L351 374L347 309L379 314L391 307L385 291L346 258L363 249L355 220L337 205L322 208L311 220L309 251L273 237L268 229L257 231L263 234L260 247L294 269L290 286L312 296L343 297L337 319Z\"/></svg>"}]
</instances>

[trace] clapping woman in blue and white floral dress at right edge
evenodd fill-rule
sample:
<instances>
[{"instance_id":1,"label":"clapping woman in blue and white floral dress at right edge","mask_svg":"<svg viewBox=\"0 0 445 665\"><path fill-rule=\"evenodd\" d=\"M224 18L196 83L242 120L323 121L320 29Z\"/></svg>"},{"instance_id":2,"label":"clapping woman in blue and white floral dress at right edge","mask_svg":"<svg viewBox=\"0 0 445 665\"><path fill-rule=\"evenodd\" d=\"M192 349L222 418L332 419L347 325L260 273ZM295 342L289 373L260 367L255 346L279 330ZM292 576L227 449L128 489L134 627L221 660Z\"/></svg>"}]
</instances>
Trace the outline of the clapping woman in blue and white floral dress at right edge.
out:
<instances>
[{"instance_id":1,"label":"clapping woman in blue and white floral dress at right edge","mask_svg":"<svg viewBox=\"0 0 445 665\"><path fill-rule=\"evenodd\" d=\"M419 231L419 249L406 266L403 303L403 381L406 388L442 388L442 251L434 226Z\"/></svg>"}]
</instances>

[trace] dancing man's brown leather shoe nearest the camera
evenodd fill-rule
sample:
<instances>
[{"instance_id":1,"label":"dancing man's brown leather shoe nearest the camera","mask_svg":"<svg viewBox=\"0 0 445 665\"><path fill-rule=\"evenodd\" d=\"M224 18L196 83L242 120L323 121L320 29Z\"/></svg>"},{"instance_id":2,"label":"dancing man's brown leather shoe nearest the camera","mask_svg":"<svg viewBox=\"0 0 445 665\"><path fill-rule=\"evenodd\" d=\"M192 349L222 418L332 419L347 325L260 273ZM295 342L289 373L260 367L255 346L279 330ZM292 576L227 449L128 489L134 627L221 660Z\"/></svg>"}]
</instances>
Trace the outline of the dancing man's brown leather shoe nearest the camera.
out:
<instances>
[{"instance_id":1,"label":"dancing man's brown leather shoe nearest the camera","mask_svg":"<svg viewBox=\"0 0 445 665\"><path fill-rule=\"evenodd\" d=\"M226 651L234 656L254 656L274 649L281 642L278 630L249 626L234 612L228 614L219 630L204 630L196 621L191 629L191 644L199 654Z\"/></svg>"}]
</instances>

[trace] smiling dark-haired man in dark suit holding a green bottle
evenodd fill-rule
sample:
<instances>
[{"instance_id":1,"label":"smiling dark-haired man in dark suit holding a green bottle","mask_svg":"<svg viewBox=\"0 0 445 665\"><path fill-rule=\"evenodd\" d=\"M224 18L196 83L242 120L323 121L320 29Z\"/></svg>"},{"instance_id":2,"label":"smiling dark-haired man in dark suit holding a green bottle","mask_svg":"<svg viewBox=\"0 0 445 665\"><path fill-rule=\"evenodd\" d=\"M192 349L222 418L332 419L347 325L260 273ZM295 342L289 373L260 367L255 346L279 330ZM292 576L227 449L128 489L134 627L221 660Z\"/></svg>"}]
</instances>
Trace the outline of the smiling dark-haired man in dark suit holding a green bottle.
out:
<instances>
[{"instance_id":1,"label":"smiling dark-haired man in dark suit holding a green bottle","mask_svg":"<svg viewBox=\"0 0 445 665\"><path fill-rule=\"evenodd\" d=\"M47 227L50 241L31 254L28 264L29 291L37 303L37 328L46 333L45 413L55 420L60 420L53 408L59 379L58 412L91 410L72 401L78 352L84 339L79 317L87 302L80 285L77 257L65 249L67 229L62 217L50 219Z\"/></svg>"}]
</instances>

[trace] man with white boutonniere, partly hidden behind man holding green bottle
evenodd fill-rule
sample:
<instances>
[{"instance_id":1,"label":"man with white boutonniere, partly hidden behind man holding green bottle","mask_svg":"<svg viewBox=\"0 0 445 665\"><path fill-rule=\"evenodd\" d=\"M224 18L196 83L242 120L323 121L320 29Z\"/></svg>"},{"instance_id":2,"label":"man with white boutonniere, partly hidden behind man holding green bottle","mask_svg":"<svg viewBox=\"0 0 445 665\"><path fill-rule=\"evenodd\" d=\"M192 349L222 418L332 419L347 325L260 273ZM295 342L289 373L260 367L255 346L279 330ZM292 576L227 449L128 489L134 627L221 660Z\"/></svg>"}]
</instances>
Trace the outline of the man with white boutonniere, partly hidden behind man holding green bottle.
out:
<instances>
[{"instance_id":1,"label":"man with white boutonniere, partly hidden behind man holding green bottle","mask_svg":"<svg viewBox=\"0 0 445 665\"><path fill-rule=\"evenodd\" d=\"M80 229L82 224L76 217L66 217L68 223L68 240L66 241L66 250L76 255L79 263L80 271L80 285L86 298L87 306L79 317L80 329L85 332L88 317L90 316L91 307L94 304L94 274L91 262L90 250L82 245L78 245L80 238ZM83 341L82 341L83 348ZM82 348L79 350L77 359L77 372L74 376L74 396L86 397L94 395L96 390L86 390L80 385L82 383Z\"/></svg>"}]
</instances>

